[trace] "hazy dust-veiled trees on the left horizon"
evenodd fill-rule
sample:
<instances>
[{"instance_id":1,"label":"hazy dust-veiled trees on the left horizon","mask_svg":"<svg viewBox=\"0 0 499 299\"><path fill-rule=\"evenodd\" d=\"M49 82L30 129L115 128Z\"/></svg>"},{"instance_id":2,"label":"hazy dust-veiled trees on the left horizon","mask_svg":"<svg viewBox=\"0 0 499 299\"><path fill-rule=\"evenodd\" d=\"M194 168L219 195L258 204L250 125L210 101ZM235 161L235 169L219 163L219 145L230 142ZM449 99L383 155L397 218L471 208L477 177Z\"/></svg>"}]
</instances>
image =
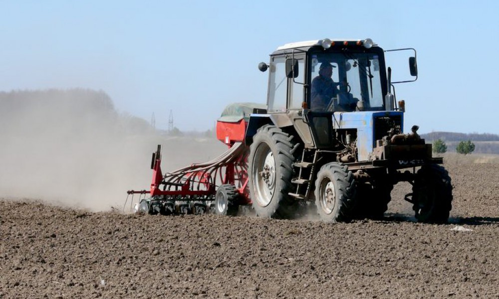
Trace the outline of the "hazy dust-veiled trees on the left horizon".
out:
<instances>
[{"instance_id":1,"label":"hazy dust-veiled trees on the left horizon","mask_svg":"<svg viewBox=\"0 0 499 299\"><path fill-rule=\"evenodd\" d=\"M118 113L103 91L49 89L0 92L1 132L23 136L59 134L144 134L151 125L138 117ZM2 135L2 134L0 134Z\"/></svg>"}]
</instances>

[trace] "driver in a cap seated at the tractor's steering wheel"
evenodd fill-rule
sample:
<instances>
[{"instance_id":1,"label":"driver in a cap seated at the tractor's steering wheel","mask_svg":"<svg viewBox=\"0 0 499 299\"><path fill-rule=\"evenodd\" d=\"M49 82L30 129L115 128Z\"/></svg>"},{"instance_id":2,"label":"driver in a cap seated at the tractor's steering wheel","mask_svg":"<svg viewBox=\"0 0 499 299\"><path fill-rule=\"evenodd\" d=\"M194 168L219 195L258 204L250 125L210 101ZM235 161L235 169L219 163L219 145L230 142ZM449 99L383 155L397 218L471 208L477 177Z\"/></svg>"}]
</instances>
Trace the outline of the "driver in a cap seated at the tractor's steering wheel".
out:
<instances>
[{"instance_id":1,"label":"driver in a cap seated at the tractor's steering wheel","mask_svg":"<svg viewBox=\"0 0 499 299\"><path fill-rule=\"evenodd\" d=\"M338 83L334 82L331 78L333 67L335 66L329 62L321 63L319 75L312 80L310 93L312 110L326 110L331 98L338 95Z\"/></svg>"}]
</instances>

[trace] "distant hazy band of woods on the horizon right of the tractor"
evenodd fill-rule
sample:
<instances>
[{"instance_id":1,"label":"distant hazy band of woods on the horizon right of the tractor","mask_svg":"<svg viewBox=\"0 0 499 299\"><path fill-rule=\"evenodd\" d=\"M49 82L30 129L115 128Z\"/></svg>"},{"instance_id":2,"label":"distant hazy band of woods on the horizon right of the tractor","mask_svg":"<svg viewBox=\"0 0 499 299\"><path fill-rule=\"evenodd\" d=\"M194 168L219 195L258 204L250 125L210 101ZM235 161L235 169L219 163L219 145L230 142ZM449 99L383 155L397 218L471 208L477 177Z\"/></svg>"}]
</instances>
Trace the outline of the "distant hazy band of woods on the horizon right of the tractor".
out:
<instances>
[{"instance_id":1,"label":"distant hazy band of woods on the horizon right of the tractor","mask_svg":"<svg viewBox=\"0 0 499 299\"><path fill-rule=\"evenodd\" d=\"M447 151L454 152L459 142L471 140L475 144L474 153L491 153L499 154L499 135L496 134L464 134L453 132L432 132L421 134L426 143L433 143L437 139L441 139L447 145Z\"/></svg>"}]
</instances>

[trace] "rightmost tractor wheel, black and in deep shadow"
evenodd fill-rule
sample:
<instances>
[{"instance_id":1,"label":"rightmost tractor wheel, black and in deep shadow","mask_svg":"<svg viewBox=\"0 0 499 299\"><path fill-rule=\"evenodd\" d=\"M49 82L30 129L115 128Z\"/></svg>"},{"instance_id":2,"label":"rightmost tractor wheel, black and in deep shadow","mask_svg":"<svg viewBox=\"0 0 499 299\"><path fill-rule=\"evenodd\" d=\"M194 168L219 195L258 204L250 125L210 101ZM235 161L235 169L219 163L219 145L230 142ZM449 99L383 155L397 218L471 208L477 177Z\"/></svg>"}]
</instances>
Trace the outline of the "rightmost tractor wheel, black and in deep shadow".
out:
<instances>
[{"instance_id":1,"label":"rightmost tractor wheel, black and in deep shadow","mask_svg":"<svg viewBox=\"0 0 499 299\"><path fill-rule=\"evenodd\" d=\"M447 223L452 209L449 172L440 165L423 166L412 187L413 210L418 222Z\"/></svg>"}]
</instances>

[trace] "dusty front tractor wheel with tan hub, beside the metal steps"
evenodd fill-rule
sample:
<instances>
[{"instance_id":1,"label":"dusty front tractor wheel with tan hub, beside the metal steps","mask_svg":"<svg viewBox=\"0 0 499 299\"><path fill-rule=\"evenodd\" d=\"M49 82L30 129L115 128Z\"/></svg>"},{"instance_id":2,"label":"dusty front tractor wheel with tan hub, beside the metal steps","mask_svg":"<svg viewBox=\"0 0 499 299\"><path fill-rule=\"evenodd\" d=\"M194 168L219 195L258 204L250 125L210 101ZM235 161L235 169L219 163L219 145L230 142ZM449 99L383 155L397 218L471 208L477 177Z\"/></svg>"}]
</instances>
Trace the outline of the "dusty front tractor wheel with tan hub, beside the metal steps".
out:
<instances>
[{"instance_id":1,"label":"dusty front tractor wheel with tan hub, beside the metal steps","mask_svg":"<svg viewBox=\"0 0 499 299\"><path fill-rule=\"evenodd\" d=\"M355 180L348 167L337 162L327 163L315 180L315 205L324 222L351 220L355 202Z\"/></svg>"}]
</instances>

